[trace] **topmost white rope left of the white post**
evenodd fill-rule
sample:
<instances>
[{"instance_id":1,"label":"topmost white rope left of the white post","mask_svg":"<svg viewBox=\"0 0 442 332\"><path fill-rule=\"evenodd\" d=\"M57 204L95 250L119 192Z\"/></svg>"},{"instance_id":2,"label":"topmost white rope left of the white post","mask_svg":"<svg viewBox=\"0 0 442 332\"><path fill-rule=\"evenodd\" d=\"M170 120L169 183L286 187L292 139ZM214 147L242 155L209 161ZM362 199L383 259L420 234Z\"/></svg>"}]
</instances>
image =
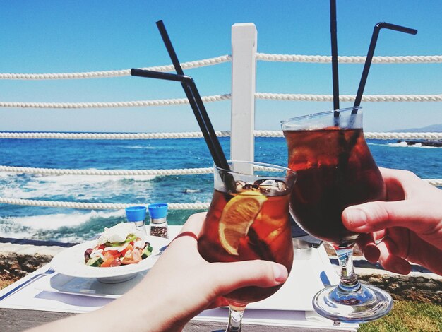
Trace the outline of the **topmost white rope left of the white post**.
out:
<instances>
[{"instance_id":1,"label":"topmost white rope left of the white post","mask_svg":"<svg viewBox=\"0 0 442 332\"><path fill-rule=\"evenodd\" d=\"M215 64L222 64L223 62L231 61L232 57L229 55L222 55L211 59L203 59L197 61L183 62L181 67L183 69L198 68L203 66L213 66ZM174 71L174 66L153 66L141 68L150 71ZM107 77L121 77L131 76L131 69L122 69L117 71L87 71L83 73L0 73L1 80L60 80L73 78L107 78Z\"/></svg>"}]
</instances>

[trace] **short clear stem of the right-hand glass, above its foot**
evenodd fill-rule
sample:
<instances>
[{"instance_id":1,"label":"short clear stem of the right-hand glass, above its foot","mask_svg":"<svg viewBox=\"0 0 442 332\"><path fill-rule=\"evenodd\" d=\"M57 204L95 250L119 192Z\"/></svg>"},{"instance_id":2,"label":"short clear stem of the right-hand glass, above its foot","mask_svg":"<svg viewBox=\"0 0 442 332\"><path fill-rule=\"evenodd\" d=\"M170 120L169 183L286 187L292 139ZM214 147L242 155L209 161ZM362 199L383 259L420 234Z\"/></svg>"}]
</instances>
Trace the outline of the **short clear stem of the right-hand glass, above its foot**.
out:
<instances>
[{"instance_id":1,"label":"short clear stem of the right-hand glass, above its foot","mask_svg":"<svg viewBox=\"0 0 442 332\"><path fill-rule=\"evenodd\" d=\"M338 287L344 292L354 292L361 288L357 275L354 274L353 268L353 247L350 244L347 247L333 246L336 254L338 254L338 261L340 266L340 282Z\"/></svg>"}]
</instances>

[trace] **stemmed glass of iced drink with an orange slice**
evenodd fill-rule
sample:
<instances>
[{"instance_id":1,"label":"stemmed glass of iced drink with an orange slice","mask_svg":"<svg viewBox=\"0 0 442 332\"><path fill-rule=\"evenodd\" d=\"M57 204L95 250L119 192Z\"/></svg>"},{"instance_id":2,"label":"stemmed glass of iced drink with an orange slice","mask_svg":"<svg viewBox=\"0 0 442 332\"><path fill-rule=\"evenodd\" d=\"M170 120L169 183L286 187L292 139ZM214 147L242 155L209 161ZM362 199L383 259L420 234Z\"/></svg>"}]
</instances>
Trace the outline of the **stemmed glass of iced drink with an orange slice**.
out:
<instances>
[{"instance_id":1,"label":"stemmed glass of iced drink with an orange slice","mask_svg":"<svg viewBox=\"0 0 442 332\"><path fill-rule=\"evenodd\" d=\"M290 271L289 198L294 172L260 162L228 163L230 170L214 167L215 191L198 251L210 263L263 259ZM242 287L225 295L230 308L226 331L241 331L246 305L269 297L280 287Z\"/></svg>"}]
</instances>

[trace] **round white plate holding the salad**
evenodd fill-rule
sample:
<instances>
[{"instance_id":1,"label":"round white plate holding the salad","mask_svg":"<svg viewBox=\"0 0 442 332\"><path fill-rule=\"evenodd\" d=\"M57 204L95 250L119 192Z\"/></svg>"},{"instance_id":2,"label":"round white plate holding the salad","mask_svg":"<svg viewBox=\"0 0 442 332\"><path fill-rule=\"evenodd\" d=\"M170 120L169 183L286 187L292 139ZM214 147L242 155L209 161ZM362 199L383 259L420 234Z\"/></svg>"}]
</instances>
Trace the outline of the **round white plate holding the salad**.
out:
<instances>
[{"instance_id":1,"label":"round white plate holding the salad","mask_svg":"<svg viewBox=\"0 0 442 332\"><path fill-rule=\"evenodd\" d=\"M98 268L85 264L85 250L97 244L88 241L59 252L51 261L52 268L58 273L78 278L97 278L102 283L121 283L136 276L136 273L146 271L153 266L160 256L160 249L167 246L170 240L163 237L148 237L147 242L153 247L152 254L136 264L115 266L113 268Z\"/></svg>"}]
</instances>

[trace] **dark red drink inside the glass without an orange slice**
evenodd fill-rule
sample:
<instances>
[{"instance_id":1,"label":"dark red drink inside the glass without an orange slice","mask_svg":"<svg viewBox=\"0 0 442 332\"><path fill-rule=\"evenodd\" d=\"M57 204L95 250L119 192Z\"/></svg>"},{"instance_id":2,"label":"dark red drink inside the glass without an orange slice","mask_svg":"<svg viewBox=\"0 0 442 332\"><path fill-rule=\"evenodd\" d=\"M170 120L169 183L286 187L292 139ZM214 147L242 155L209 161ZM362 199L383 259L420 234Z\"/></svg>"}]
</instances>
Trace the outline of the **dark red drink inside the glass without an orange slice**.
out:
<instances>
[{"instance_id":1,"label":"dark red drink inside the glass without an orange slice","mask_svg":"<svg viewBox=\"0 0 442 332\"><path fill-rule=\"evenodd\" d=\"M341 221L344 208L386 196L381 173L362 129L338 126L284 131L289 168L297 172L290 200L297 223L309 234L340 246L358 234Z\"/></svg>"}]
</instances>

